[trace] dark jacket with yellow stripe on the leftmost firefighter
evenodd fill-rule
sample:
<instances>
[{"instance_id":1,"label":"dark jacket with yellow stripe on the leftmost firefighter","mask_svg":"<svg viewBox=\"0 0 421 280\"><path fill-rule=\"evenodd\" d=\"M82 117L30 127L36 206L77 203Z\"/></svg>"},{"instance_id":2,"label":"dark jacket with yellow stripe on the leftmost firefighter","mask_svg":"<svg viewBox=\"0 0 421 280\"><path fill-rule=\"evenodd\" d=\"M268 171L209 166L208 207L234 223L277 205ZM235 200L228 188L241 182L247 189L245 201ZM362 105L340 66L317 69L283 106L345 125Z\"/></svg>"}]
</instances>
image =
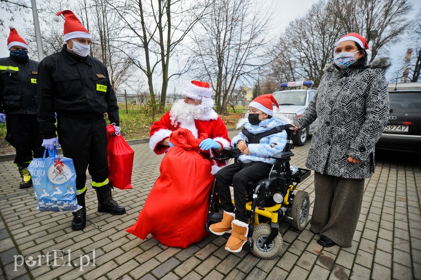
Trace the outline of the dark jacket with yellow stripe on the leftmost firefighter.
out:
<instances>
[{"instance_id":1,"label":"dark jacket with yellow stripe on the leftmost firefighter","mask_svg":"<svg viewBox=\"0 0 421 280\"><path fill-rule=\"evenodd\" d=\"M0 113L36 115L38 62L0 59Z\"/></svg>"}]
</instances>

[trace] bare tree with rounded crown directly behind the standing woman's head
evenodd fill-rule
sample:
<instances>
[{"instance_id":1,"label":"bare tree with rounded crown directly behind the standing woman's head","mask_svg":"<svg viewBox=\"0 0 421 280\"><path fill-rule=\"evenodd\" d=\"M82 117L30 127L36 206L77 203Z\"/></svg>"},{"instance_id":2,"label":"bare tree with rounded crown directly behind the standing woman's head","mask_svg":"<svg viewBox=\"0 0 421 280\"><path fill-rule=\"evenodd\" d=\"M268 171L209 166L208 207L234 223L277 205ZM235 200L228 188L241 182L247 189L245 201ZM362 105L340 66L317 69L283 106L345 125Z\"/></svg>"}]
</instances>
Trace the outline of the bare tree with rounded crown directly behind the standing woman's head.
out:
<instances>
[{"instance_id":1,"label":"bare tree with rounded crown directly behind the standing woman's head","mask_svg":"<svg viewBox=\"0 0 421 280\"><path fill-rule=\"evenodd\" d=\"M318 85L343 32L343 23L334 15L332 2L319 0L280 36L280 43L272 52L275 59L270 76L280 81L310 79Z\"/></svg>"}]
</instances>

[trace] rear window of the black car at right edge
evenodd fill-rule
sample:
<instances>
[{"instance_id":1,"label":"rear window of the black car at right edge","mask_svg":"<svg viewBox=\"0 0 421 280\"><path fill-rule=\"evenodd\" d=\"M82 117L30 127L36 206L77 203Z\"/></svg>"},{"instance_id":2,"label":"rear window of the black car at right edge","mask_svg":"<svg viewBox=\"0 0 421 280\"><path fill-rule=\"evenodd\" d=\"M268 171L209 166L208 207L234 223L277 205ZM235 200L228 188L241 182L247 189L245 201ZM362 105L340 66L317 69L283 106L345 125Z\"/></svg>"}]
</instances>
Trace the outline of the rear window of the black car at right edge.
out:
<instances>
[{"instance_id":1,"label":"rear window of the black car at right edge","mask_svg":"<svg viewBox=\"0 0 421 280\"><path fill-rule=\"evenodd\" d=\"M421 92L389 92L389 109L395 113L421 113Z\"/></svg>"}]
</instances>

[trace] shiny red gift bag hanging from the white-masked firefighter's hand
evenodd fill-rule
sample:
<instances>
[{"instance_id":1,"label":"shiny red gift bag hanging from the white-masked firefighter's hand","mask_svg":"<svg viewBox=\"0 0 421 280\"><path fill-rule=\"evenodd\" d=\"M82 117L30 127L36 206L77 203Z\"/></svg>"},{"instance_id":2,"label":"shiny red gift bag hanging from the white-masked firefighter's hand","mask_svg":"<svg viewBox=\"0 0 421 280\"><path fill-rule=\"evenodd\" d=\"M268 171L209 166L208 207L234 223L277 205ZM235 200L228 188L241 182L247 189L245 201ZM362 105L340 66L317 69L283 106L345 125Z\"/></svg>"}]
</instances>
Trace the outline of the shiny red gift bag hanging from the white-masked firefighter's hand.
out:
<instances>
[{"instance_id":1,"label":"shiny red gift bag hanging from the white-masked firefighter's hand","mask_svg":"<svg viewBox=\"0 0 421 280\"><path fill-rule=\"evenodd\" d=\"M107 126L107 157L108 157L108 180L113 187L128 189L131 187L131 172L133 170L134 151L123 139L123 136L115 133L112 124Z\"/></svg>"}]
</instances>

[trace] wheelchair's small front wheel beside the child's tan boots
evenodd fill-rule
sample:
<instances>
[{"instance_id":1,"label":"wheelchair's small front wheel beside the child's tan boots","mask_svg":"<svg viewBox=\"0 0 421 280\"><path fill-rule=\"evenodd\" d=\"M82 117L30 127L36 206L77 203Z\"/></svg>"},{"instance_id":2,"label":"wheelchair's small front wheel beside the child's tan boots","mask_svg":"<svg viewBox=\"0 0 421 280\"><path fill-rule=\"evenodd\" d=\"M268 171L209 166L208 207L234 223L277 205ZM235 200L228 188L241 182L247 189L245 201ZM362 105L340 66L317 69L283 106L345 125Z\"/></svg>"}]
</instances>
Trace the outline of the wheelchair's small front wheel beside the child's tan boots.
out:
<instances>
[{"instance_id":1,"label":"wheelchair's small front wheel beside the child's tan boots","mask_svg":"<svg viewBox=\"0 0 421 280\"><path fill-rule=\"evenodd\" d=\"M281 234L278 234L268 247L263 247L270 231L271 228L268 224L258 224L253 230L254 243L252 253L261 259L272 259L281 255L283 245Z\"/></svg>"}]
</instances>

